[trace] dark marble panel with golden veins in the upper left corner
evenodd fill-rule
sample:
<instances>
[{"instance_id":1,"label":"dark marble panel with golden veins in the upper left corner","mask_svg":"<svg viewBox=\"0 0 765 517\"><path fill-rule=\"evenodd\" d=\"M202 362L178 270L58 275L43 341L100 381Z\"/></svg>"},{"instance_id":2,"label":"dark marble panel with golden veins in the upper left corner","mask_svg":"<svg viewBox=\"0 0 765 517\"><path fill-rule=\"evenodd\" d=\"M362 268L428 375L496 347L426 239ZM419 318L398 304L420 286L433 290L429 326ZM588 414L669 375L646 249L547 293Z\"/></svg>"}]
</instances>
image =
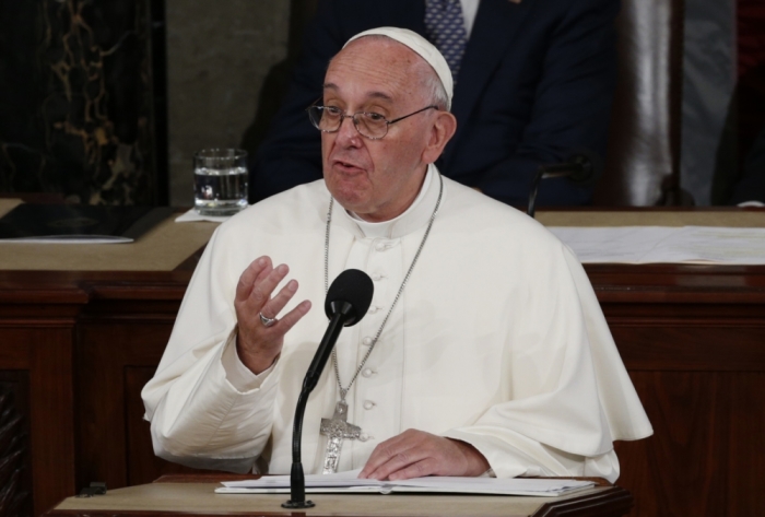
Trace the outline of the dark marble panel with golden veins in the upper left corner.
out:
<instances>
[{"instance_id":1,"label":"dark marble panel with golden veins in the upper left corner","mask_svg":"<svg viewBox=\"0 0 765 517\"><path fill-rule=\"evenodd\" d=\"M149 0L0 0L1 192L163 202L152 33Z\"/></svg>"}]
</instances>

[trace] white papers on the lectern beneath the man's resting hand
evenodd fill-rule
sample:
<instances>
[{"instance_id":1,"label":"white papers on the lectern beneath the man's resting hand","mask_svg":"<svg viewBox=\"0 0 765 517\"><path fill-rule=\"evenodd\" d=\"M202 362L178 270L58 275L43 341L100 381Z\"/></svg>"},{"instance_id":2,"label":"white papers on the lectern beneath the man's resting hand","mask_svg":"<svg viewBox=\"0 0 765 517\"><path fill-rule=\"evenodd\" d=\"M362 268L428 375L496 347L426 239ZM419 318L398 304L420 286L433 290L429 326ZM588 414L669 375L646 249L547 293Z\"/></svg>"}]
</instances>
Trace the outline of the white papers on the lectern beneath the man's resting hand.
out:
<instances>
[{"instance_id":1,"label":"white papers on the lectern beneath the man's resting hand","mask_svg":"<svg viewBox=\"0 0 765 517\"><path fill-rule=\"evenodd\" d=\"M570 479L496 479L496 478L415 478L404 481L377 481L358 479L361 470L337 474L309 474L305 477L307 493L450 493L533 495L553 497L595 485L591 481ZM228 481L219 494L273 494L290 492L289 475L267 475L258 480Z\"/></svg>"}]
</instances>

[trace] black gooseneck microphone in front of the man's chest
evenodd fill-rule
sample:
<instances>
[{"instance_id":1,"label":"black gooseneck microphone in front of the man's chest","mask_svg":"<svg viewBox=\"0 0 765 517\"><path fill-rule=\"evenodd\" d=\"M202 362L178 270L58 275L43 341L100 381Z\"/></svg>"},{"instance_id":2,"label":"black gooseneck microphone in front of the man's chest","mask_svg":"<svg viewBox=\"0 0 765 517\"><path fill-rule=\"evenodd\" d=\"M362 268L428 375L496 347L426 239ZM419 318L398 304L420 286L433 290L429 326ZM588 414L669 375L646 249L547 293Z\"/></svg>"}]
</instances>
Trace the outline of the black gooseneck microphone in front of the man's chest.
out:
<instances>
[{"instance_id":1,"label":"black gooseneck microphone in front of the man's chest","mask_svg":"<svg viewBox=\"0 0 765 517\"><path fill-rule=\"evenodd\" d=\"M329 286L325 301L325 313L329 318L329 327L316 350L314 361L308 366L303 389L297 398L295 420L292 427L292 470L290 472L290 501L282 503L284 508L310 508L313 502L306 501L306 482L301 459L301 440L303 437L303 416L305 415L308 395L319 381L332 348L340 337L343 327L356 325L369 309L375 286L364 271L346 269L334 279Z\"/></svg>"}]
</instances>

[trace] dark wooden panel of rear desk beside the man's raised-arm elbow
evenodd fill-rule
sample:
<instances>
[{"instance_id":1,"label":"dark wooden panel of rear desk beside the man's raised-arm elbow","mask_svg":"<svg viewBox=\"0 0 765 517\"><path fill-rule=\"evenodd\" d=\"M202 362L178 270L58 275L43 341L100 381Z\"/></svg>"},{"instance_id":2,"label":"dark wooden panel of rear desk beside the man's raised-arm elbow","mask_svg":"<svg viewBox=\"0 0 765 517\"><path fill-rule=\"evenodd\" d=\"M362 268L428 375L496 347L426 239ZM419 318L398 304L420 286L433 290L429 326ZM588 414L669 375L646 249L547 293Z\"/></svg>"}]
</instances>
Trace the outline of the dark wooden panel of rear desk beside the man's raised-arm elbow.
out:
<instances>
[{"instance_id":1,"label":"dark wooden panel of rear desk beside the man's raised-arm elbow","mask_svg":"<svg viewBox=\"0 0 765 517\"><path fill-rule=\"evenodd\" d=\"M143 420L141 389L154 375L173 320L157 322L136 314L89 318L78 337L78 484L105 481L120 487L165 473L198 472L156 458Z\"/></svg>"}]
</instances>

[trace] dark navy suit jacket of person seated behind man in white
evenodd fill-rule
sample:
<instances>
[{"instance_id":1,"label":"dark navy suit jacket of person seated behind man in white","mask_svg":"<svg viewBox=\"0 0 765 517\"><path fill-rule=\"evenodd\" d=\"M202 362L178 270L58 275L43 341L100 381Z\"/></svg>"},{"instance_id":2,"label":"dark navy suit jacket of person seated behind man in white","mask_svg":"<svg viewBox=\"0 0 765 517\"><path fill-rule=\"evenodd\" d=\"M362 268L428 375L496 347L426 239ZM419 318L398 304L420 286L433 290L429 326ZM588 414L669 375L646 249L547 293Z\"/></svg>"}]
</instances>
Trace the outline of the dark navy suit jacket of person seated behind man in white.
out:
<instances>
[{"instance_id":1,"label":"dark navy suit jacket of person seated behind man in white","mask_svg":"<svg viewBox=\"0 0 765 517\"><path fill-rule=\"evenodd\" d=\"M573 149L605 153L615 85L619 0L481 0L452 113L457 133L436 163L446 176L525 205L540 164ZM251 164L257 201L321 177L320 133L305 108L353 35L399 26L424 35L423 0L325 0L309 25L285 104ZM582 204L592 187L548 179L538 204Z\"/></svg>"}]
</instances>

